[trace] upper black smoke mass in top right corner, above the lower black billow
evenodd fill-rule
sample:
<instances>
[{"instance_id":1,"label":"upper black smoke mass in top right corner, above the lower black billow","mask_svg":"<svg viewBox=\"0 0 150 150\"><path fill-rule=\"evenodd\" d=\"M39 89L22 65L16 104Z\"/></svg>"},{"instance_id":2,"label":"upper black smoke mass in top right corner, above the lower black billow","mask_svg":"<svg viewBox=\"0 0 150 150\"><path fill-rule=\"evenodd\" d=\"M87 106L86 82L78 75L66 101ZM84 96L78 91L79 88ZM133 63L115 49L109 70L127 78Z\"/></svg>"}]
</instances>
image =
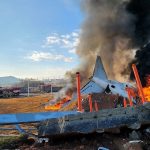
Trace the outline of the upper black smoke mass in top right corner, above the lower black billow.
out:
<instances>
[{"instance_id":1,"label":"upper black smoke mass in top right corner, above the lower black billow","mask_svg":"<svg viewBox=\"0 0 150 150\"><path fill-rule=\"evenodd\" d=\"M130 0L126 8L135 17L133 44L141 47L150 39L150 0Z\"/></svg>"}]
</instances>

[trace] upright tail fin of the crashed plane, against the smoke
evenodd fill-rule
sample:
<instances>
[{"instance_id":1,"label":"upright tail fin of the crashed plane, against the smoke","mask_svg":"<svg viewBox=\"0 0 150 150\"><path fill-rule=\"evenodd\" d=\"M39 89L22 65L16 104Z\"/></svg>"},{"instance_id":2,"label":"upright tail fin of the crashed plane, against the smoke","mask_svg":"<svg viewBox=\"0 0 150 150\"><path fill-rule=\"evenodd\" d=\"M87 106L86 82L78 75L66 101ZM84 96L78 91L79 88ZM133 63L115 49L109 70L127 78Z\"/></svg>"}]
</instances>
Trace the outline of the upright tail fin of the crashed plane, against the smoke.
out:
<instances>
[{"instance_id":1,"label":"upright tail fin of the crashed plane, against the smoke","mask_svg":"<svg viewBox=\"0 0 150 150\"><path fill-rule=\"evenodd\" d=\"M97 56L96 64L93 72L93 77L97 77L99 79L108 80L101 57Z\"/></svg>"}]
</instances>

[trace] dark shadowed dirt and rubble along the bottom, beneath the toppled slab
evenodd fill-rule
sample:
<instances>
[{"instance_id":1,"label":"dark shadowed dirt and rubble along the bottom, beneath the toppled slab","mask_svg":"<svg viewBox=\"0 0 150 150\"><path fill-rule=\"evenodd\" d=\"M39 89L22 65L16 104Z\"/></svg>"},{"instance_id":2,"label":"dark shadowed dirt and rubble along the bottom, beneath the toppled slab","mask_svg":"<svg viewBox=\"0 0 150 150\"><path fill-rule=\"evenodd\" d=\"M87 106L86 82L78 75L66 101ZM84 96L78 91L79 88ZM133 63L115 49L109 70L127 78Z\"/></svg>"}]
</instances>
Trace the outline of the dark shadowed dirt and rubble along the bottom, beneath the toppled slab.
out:
<instances>
[{"instance_id":1,"label":"dark shadowed dirt and rubble along the bottom, beneath the toppled slab","mask_svg":"<svg viewBox=\"0 0 150 150\"><path fill-rule=\"evenodd\" d=\"M97 150L105 147L110 150L131 149L129 141L132 130L113 129L105 133L72 134L49 137L48 143L34 143L32 139L21 137L15 140L5 141L0 145L0 149L20 149L20 150ZM132 145L132 150L150 150L150 134L145 132L145 128L136 130L142 143Z\"/></svg>"}]
</instances>

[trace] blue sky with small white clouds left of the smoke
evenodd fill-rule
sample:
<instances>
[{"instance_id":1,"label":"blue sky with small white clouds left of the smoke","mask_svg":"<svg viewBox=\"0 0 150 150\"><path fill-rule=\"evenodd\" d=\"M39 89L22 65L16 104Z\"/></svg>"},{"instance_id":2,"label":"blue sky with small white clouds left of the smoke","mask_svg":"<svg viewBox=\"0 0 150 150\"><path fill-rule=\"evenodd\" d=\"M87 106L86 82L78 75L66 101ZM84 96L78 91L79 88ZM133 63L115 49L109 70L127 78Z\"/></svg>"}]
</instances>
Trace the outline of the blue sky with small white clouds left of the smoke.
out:
<instances>
[{"instance_id":1,"label":"blue sky with small white clouds left of the smoke","mask_svg":"<svg viewBox=\"0 0 150 150\"><path fill-rule=\"evenodd\" d=\"M80 0L0 0L0 76L63 77L82 20Z\"/></svg>"}]
</instances>

